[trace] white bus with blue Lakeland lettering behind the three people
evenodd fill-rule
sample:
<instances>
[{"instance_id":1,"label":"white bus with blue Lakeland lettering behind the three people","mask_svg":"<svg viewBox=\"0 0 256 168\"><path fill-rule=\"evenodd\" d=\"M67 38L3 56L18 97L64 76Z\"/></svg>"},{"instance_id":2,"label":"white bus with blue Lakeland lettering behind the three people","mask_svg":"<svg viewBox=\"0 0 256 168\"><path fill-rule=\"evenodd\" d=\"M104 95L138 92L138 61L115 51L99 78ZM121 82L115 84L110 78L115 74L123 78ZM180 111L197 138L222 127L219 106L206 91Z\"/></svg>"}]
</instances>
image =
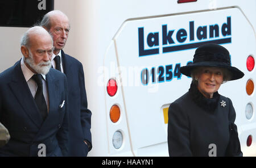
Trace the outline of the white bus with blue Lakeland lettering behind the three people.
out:
<instances>
[{"instance_id":1,"label":"white bus with blue Lakeland lettering behind the three people","mask_svg":"<svg viewBox=\"0 0 256 168\"><path fill-rule=\"evenodd\" d=\"M191 62L195 49L205 43L223 45L232 66L245 73L222 85L219 93L232 99L243 156L256 156L256 1L37 3L38 10L61 10L71 20L64 51L84 66L92 111L88 156L168 156L168 107L191 83L179 67ZM21 57L19 40L27 29L1 25L0 72Z\"/></svg>"}]
</instances>

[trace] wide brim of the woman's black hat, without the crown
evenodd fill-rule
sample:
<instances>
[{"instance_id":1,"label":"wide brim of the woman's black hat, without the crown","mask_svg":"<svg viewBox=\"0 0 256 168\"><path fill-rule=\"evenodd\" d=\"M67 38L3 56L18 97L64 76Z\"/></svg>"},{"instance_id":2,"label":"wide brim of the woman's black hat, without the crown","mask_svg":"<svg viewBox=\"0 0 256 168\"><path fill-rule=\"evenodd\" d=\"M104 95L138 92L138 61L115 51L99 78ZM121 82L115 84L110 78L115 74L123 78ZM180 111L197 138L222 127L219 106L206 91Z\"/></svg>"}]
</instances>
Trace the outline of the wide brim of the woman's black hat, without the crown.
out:
<instances>
[{"instance_id":1,"label":"wide brim of the woman's black hat, without the crown","mask_svg":"<svg viewBox=\"0 0 256 168\"><path fill-rule=\"evenodd\" d=\"M212 62L212 61L207 61L207 62L197 62L197 63L192 63L192 64L188 64L187 66L181 66L180 67L180 73L191 77L191 71L197 67L200 66L209 66L209 67L216 67L216 68L224 68L229 70L229 72L232 74L232 77L229 79L229 81L233 81L236 79L240 79L243 77L243 75L245 75L243 72L241 72L241 70L237 69L236 67L233 66L229 66L226 64L222 64L220 62Z\"/></svg>"}]
</instances>

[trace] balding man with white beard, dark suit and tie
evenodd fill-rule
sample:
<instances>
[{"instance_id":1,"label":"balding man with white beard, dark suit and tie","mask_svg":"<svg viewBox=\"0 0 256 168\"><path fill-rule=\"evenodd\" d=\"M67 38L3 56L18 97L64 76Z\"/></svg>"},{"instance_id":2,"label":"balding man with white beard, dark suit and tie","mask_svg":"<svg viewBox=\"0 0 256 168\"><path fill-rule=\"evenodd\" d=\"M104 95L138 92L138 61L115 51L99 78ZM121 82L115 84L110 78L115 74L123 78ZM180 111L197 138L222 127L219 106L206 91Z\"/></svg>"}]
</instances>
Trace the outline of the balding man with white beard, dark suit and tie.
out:
<instances>
[{"instance_id":1,"label":"balding man with white beard, dark suit and tie","mask_svg":"<svg viewBox=\"0 0 256 168\"><path fill-rule=\"evenodd\" d=\"M20 46L22 59L0 74L0 122L11 136L0 156L67 156L67 79L51 68L52 38L36 26Z\"/></svg>"}]
</instances>

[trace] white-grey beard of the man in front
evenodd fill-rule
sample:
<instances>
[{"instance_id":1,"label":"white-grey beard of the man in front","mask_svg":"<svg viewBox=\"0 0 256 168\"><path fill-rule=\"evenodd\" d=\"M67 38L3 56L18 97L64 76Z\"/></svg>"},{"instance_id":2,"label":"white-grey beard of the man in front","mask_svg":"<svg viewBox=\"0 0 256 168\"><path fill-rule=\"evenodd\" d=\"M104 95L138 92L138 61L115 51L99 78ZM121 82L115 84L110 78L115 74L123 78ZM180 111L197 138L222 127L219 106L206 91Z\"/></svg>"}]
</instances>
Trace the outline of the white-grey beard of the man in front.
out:
<instances>
[{"instance_id":1,"label":"white-grey beard of the man in front","mask_svg":"<svg viewBox=\"0 0 256 168\"><path fill-rule=\"evenodd\" d=\"M30 54L30 51L28 52L29 52L29 57L25 58L24 61L32 69L34 69L36 73L46 75L49 72L50 68L52 67L51 61L47 61L47 62L41 61L39 62L38 65L36 65L35 61L32 59L32 54Z\"/></svg>"}]
</instances>

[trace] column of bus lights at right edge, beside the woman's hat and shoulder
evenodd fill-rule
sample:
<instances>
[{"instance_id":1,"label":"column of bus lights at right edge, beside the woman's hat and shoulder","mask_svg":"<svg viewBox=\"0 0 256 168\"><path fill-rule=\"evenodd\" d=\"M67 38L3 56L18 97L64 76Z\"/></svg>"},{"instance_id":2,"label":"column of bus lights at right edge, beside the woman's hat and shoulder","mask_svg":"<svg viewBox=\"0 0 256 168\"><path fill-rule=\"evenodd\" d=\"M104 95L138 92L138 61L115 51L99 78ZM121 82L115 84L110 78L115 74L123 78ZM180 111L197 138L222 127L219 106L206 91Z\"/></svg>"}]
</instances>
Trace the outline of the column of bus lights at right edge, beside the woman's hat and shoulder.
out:
<instances>
[{"instance_id":1,"label":"column of bus lights at right edge, beside the woman's hat and shoulder","mask_svg":"<svg viewBox=\"0 0 256 168\"><path fill-rule=\"evenodd\" d=\"M251 72L254 69L255 61L253 56L247 57L246 60L246 68L249 72ZM247 95L251 96L254 92L254 82L252 79L248 79L246 82L246 93ZM245 107L245 116L247 120L250 120L251 117L253 117L253 105L251 103L246 104ZM253 136L249 135L247 137L247 146L251 146L251 142L253 142Z\"/></svg>"}]
</instances>

